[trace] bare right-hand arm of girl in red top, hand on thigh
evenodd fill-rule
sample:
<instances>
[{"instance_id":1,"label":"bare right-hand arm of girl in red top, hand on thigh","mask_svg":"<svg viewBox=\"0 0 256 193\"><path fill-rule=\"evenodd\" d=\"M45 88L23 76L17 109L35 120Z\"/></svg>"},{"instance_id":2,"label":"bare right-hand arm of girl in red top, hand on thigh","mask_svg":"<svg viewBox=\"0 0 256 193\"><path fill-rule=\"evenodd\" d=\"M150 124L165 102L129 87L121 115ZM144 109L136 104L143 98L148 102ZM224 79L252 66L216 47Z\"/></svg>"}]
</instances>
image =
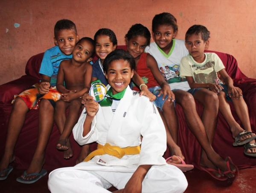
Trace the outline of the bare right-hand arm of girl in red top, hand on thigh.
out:
<instances>
[{"instance_id":1,"label":"bare right-hand arm of girl in red top, hand on thigh","mask_svg":"<svg viewBox=\"0 0 256 193\"><path fill-rule=\"evenodd\" d=\"M163 99L168 96L168 100L172 102L175 100L175 95L173 94L169 84L163 78L161 72L159 71L157 61L150 54L147 54L147 67L150 68L154 78L157 80L158 84L162 88L158 96L163 94Z\"/></svg>"}]
</instances>

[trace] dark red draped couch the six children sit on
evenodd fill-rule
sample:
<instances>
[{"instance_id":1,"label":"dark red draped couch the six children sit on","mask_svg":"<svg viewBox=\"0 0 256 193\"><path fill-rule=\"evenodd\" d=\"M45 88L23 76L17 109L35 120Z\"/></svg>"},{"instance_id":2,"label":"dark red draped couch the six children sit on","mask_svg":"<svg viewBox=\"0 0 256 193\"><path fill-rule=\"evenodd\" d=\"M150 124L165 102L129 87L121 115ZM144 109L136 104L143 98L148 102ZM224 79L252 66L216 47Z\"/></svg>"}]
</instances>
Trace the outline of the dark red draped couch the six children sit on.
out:
<instances>
[{"instance_id":1,"label":"dark red draped couch the six children sit on","mask_svg":"<svg viewBox=\"0 0 256 193\"><path fill-rule=\"evenodd\" d=\"M119 48L124 48L120 46ZM250 122L253 131L256 133L256 79L247 78L238 68L236 59L229 55L220 52L215 52L223 61L227 73L234 79L235 85L239 86L247 102ZM3 155L4 145L6 142L7 122L12 109L11 101L15 94L29 88L34 83L38 82L40 75L38 74L43 53L37 54L29 59L26 64L26 75L12 82L0 85L0 155ZM231 105L233 115L236 120L238 117ZM187 163L192 163L195 167L199 164L201 155L201 147L195 137L189 131L184 119L183 110L180 105L176 107L179 117L179 145L183 151ZM202 113L202 105L197 102L198 113ZM32 160L38 136L38 111L31 110L28 112L23 129L17 141L15 148L15 167L26 169ZM67 167L75 165L76 159L79 156L81 147L70 136L73 147L73 158L65 160L63 153L58 151L55 146L59 137L59 132L54 125L52 134L49 139L46 150L46 160L44 168L53 170L58 167ZM233 147L234 139L232 138L230 128L221 114L218 115L218 125L215 133L213 147L223 157L230 156L233 162L240 168L256 165L256 158L244 156L243 147ZM95 145L93 146L95 148ZM166 151L165 157L169 156L169 150Z\"/></svg>"}]
</instances>

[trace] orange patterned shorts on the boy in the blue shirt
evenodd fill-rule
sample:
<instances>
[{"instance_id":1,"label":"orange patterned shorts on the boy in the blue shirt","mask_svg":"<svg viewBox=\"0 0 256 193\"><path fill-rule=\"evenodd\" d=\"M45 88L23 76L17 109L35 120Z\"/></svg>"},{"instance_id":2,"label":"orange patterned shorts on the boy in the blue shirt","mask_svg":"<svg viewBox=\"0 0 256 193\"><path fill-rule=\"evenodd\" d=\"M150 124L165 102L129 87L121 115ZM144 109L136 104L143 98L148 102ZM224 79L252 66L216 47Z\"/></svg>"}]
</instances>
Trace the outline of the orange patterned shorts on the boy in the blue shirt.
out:
<instances>
[{"instance_id":1,"label":"orange patterned shorts on the boy in the blue shirt","mask_svg":"<svg viewBox=\"0 0 256 193\"><path fill-rule=\"evenodd\" d=\"M40 94L38 92L38 88L38 83L32 85L31 88L16 95L15 98L12 100L12 103L14 103L17 97L20 97L23 99L29 109L38 109L38 102L41 99L48 99L54 107L55 102L61 98L61 93L57 91L56 86L50 87L47 94Z\"/></svg>"}]
</instances>

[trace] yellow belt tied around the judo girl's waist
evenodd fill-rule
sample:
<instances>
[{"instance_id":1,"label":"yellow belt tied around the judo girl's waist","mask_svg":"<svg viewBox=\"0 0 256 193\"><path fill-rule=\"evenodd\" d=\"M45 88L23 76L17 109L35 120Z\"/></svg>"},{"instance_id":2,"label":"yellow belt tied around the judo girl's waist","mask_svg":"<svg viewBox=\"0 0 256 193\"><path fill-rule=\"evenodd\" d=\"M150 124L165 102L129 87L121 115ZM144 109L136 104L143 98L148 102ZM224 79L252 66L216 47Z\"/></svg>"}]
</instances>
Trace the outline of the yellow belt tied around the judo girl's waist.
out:
<instances>
[{"instance_id":1,"label":"yellow belt tied around the judo girl's waist","mask_svg":"<svg viewBox=\"0 0 256 193\"><path fill-rule=\"evenodd\" d=\"M92 153L90 153L85 159L84 162L88 162L94 156L101 156L103 154L108 154L111 156L115 156L117 158L122 158L124 155L134 155L140 153L140 145L135 147L127 147L127 148L119 148L118 146L112 146L109 143L105 145L100 145L98 143L98 147Z\"/></svg>"}]
</instances>

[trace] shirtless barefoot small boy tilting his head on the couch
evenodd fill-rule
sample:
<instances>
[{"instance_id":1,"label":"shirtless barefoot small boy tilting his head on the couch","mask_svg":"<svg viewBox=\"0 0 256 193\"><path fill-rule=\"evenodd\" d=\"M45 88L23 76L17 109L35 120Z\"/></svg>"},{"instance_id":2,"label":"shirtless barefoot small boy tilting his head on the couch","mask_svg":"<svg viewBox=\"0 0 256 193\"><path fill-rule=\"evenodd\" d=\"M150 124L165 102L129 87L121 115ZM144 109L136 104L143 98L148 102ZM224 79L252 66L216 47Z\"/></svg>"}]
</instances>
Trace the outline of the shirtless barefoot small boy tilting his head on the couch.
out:
<instances>
[{"instance_id":1,"label":"shirtless barefoot small boy tilting his head on the couch","mask_svg":"<svg viewBox=\"0 0 256 193\"><path fill-rule=\"evenodd\" d=\"M71 60L61 62L58 76L57 89L61 94L55 107L55 123L61 133L56 148L64 150L64 159L73 156L69 136L78 121L81 109L81 97L88 92L92 74L92 55L95 43L90 37L83 37L76 44ZM64 85L65 82L65 85ZM66 109L69 114L66 117Z\"/></svg>"}]
</instances>

